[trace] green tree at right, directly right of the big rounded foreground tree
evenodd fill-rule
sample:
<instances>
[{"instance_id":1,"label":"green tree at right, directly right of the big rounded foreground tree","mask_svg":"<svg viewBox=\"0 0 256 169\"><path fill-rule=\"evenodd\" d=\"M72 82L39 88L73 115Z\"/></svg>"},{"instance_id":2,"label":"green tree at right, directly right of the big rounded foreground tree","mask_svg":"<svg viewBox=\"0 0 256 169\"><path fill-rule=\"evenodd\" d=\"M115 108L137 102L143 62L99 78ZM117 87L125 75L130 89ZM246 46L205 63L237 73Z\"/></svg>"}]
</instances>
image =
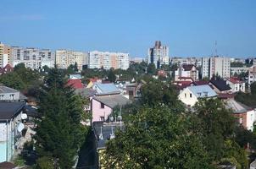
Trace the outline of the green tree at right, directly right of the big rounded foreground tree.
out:
<instances>
[{"instance_id":1,"label":"green tree at right, directly right of the big rounded foreground tree","mask_svg":"<svg viewBox=\"0 0 256 169\"><path fill-rule=\"evenodd\" d=\"M203 99L196 104L195 112L196 118L192 120L192 128L202 134L203 144L211 160L220 162L223 158L231 158L237 161L241 168L247 168L245 152L233 141L235 118L230 110L225 109L223 102L217 99Z\"/></svg>"}]
</instances>

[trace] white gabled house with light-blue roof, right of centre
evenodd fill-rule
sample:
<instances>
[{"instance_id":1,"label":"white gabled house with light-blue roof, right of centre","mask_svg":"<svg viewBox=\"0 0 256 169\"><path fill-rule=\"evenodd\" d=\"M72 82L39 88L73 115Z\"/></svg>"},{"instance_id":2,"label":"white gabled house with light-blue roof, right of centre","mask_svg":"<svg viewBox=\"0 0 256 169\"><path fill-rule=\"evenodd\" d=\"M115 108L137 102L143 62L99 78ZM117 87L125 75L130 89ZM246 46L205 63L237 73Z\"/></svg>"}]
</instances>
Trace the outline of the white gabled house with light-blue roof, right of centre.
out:
<instances>
[{"instance_id":1,"label":"white gabled house with light-blue roof, right of centre","mask_svg":"<svg viewBox=\"0 0 256 169\"><path fill-rule=\"evenodd\" d=\"M178 97L187 106L194 106L199 98L214 97L216 95L209 85L196 85L186 87Z\"/></svg>"}]
</instances>

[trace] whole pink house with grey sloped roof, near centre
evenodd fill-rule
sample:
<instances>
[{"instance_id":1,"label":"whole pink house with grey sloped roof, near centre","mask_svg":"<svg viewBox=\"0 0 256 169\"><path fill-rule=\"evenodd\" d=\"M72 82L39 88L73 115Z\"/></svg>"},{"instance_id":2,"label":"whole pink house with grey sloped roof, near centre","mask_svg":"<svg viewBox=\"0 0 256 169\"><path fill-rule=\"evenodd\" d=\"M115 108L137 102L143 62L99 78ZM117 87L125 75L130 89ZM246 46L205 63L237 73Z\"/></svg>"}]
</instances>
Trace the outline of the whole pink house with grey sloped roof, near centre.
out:
<instances>
[{"instance_id":1,"label":"whole pink house with grey sloped roof, near centre","mask_svg":"<svg viewBox=\"0 0 256 169\"><path fill-rule=\"evenodd\" d=\"M92 97L92 123L106 121L115 106L129 104L130 100L123 95L98 95Z\"/></svg>"}]
</instances>

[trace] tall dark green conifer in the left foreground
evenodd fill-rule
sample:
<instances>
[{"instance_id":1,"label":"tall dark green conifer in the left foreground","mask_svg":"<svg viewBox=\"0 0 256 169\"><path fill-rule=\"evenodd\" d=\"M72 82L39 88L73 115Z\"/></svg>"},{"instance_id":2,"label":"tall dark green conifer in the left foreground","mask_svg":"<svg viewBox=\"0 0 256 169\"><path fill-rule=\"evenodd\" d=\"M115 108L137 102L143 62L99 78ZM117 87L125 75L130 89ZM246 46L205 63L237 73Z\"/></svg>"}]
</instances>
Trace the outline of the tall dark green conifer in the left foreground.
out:
<instances>
[{"instance_id":1,"label":"tall dark green conifer in the left foreground","mask_svg":"<svg viewBox=\"0 0 256 169\"><path fill-rule=\"evenodd\" d=\"M81 125L83 106L74 91L65 85L64 74L49 71L39 100L36 120L36 151L53 159L60 168L71 168L87 128Z\"/></svg>"}]
</instances>

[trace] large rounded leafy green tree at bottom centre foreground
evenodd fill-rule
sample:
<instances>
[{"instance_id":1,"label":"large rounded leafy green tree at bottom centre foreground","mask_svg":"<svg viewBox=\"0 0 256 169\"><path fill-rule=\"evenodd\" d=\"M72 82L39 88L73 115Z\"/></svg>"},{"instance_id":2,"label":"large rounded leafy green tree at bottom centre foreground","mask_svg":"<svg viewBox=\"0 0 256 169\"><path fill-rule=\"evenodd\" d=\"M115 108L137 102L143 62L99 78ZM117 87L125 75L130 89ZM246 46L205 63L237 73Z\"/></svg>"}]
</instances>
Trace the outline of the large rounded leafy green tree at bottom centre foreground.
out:
<instances>
[{"instance_id":1,"label":"large rounded leafy green tree at bottom centre foreground","mask_svg":"<svg viewBox=\"0 0 256 169\"><path fill-rule=\"evenodd\" d=\"M166 106L145 107L107 143L106 168L211 168L186 116Z\"/></svg>"}]
</instances>

